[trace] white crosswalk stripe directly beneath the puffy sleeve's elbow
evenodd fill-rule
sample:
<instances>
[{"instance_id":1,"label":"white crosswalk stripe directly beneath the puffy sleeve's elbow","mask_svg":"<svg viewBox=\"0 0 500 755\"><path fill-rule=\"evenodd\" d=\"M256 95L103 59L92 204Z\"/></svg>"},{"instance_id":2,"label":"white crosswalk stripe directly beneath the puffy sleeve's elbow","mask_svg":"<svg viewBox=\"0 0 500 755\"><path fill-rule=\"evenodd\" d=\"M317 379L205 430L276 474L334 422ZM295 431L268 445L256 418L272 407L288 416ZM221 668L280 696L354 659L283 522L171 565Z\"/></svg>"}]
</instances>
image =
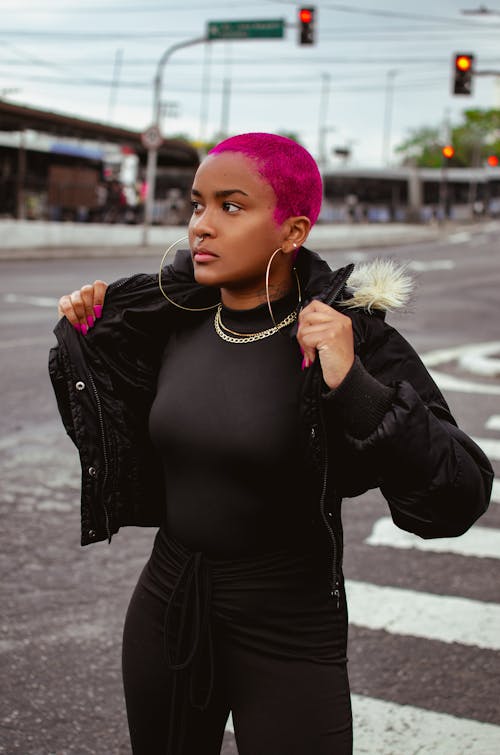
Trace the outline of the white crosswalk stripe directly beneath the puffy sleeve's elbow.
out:
<instances>
[{"instance_id":1,"label":"white crosswalk stripe directly beneath the puffy sleeve's elbow","mask_svg":"<svg viewBox=\"0 0 500 755\"><path fill-rule=\"evenodd\" d=\"M368 545L389 548L415 548L429 553L455 553L476 558L500 558L500 530L493 527L471 527L460 537L439 537L423 540L396 527L390 516L378 519L366 538ZM499 627L500 632L500 627Z\"/></svg>"}]
</instances>

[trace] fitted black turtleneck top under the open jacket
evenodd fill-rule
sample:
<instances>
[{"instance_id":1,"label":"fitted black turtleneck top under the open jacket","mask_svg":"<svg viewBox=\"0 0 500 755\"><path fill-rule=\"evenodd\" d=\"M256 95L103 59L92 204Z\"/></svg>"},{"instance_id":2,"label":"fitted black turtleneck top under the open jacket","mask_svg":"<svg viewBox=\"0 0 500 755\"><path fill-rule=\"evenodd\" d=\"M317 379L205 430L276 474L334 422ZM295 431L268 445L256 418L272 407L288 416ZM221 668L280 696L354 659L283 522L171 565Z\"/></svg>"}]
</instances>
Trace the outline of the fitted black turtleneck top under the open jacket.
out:
<instances>
[{"instance_id":1,"label":"fitted black turtleneck top under the open jacket","mask_svg":"<svg viewBox=\"0 0 500 755\"><path fill-rule=\"evenodd\" d=\"M276 322L296 293L273 303ZM302 355L291 326L228 343L215 310L186 319L166 345L150 413L164 468L166 532L213 557L299 542L311 520L299 443ZM267 305L223 307L240 333L272 327Z\"/></svg>"}]
</instances>

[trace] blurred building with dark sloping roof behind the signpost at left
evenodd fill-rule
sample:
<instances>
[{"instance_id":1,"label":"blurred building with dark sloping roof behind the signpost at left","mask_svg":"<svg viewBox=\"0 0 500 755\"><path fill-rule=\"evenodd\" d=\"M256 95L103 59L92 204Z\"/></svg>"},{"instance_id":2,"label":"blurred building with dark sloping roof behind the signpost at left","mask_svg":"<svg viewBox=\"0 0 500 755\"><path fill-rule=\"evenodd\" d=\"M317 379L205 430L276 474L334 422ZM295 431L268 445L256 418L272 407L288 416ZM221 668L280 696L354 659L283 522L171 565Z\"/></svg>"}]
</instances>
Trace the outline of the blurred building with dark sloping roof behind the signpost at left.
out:
<instances>
[{"instance_id":1,"label":"blurred building with dark sloping roof behind the signpost at left","mask_svg":"<svg viewBox=\"0 0 500 755\"><path fill-rule=\"evenodd\" d=\"M0 217L140 222L146 161L139 131L0 100ZM198 164L193 146L164 140L154 222L187 220Z\"/></svg>"}]
</instances>

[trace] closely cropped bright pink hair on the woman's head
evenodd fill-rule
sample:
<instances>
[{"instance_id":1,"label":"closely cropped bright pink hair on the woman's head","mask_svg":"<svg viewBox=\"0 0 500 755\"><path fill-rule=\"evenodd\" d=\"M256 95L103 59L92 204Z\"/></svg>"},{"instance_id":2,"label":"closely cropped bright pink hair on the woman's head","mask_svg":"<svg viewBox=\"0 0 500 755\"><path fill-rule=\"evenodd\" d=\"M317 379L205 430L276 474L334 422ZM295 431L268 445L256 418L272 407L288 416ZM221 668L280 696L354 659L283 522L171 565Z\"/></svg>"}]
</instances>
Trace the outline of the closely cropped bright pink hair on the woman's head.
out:
<instances>
[{"instance_id":1,"label":"closely cropped bright pink hair on the woman's head","mask_svg":"<svg viewBox=\"0 0 500 755\"><path fill-rule=\"evenodd\" d=\"M305 215L314 225L323 200L323 182L318 166L300 144L278 134L239 134L219 142L209 155L239 152L250 158L276 196L274 219Z\"/></svg>"}]
</instances>

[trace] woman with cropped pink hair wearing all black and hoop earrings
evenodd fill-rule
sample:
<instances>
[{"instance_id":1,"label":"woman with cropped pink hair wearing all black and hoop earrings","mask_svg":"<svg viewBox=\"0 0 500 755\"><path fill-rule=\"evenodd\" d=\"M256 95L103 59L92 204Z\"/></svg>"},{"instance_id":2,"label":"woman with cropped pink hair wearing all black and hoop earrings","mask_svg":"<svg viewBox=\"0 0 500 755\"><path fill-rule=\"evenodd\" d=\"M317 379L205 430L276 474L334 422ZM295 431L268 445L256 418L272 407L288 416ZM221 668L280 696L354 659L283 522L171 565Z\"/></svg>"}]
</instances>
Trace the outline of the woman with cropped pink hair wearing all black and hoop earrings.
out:
<instances>
[{"instance_id":1,"label":"woman with cropped pink hair wearing all black and hoop earrings","mask_svg":"<svg viewBox=\"0 0 500 755\"><path fill-rule=\"evenodd\" d=\"M321 197L295 142L227 139L159 280L60 300L82 544L159 526L123 638L134 755L215 755L230 710L240 755L350 753L342 498L380 487L422 537L487 508L488 460L384 320L407 279L303 247Z\"/></svg>"}]
</instances>

